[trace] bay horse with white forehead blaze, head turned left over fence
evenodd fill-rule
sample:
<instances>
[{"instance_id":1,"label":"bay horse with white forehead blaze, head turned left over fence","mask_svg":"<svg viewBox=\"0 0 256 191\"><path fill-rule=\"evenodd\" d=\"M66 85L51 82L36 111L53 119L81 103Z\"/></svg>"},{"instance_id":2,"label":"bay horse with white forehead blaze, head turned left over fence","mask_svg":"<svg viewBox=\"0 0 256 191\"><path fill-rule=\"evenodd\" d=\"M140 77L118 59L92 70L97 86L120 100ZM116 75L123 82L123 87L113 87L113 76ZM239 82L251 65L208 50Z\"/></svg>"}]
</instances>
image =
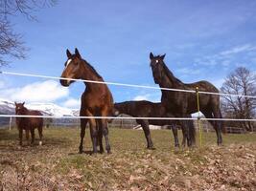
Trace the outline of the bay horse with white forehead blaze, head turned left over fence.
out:
<instances>
[{"instance_id":1,"label":"bay horse with white forehead blaze, head turned left over fence","mask_svg":"<svg viewBox=\"0 0 256 191\"><path fill-rule=\"evenodd\" d=\"M103 77L84 59L76 48L75 54L66 51L67 61L64 71L61 74L63 78L74 78L84 80L94 80L104 82ZM74 80L60 79L62 86L69 86ZM108 140L107 119L95 119L93 117L112 116L113 98L105 84L84 82L86 88L81 95L81 143L80 153L82 153L82 142L85 135L87 122L90 124L90 134L93 144L93 153L97 153L97 145L100 144L100 152L104 152L102 138L105 136L105 150L110 153L110 144Z\"/></svg>"}]
</instances>

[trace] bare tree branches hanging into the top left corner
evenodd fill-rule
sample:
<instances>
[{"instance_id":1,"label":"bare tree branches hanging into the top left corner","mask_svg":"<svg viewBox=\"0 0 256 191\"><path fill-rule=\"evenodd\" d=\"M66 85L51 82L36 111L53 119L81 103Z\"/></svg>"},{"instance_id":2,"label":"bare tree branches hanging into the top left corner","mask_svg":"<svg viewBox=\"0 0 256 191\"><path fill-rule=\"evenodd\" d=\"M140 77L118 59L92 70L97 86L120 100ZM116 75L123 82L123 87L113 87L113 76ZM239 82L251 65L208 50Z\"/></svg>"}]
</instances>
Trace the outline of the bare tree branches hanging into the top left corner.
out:
<instances>
[{"instance_id":1,"label":"bare tree branches hanging into the top left corner","mask_svg":"<svg viewBox=\"0 0 256 191\"><path fill-rule=\"evenodd\" d=\"M7 56L25 58L28 50L22 35L13 31L11 17L23 15L36 20L35 11L56 3L57 0L0 0L0 66L7 64Z\"/></svg>"}]
</instances>

